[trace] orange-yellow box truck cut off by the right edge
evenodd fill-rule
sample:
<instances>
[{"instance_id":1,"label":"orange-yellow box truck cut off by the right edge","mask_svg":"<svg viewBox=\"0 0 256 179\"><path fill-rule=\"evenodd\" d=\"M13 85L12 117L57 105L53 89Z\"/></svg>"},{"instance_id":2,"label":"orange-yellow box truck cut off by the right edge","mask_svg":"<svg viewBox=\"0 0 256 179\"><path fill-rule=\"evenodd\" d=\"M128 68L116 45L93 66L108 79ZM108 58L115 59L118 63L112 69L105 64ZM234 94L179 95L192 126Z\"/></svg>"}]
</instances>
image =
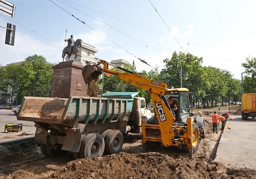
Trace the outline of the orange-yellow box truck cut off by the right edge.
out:
<instances>
[{"instance_id":1,"label":"orange-yellow box truck cut off by the right edge","mask_svg":"<svg viewBox=\"0 0 256 179\"><path fill-rule=\"evenodd\" d=\"M242 120L256 118L256 93L242 94Z\"/></svg>"}]
</instances>

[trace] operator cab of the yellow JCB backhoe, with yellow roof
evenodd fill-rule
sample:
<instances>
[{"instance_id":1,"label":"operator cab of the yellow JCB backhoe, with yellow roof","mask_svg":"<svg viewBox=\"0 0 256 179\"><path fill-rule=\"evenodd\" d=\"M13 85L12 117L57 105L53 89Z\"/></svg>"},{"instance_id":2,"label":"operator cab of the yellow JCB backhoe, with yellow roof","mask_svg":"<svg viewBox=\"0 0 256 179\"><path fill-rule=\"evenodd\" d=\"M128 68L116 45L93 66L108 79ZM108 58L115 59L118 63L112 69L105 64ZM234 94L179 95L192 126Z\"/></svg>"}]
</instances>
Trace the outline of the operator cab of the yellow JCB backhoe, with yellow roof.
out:
<instances>
[{"instance_id":1,"label":"operator cab of the yellow JCB backhoe, with yellow roof","mask_svg":"<svg viewBox=\"0 0 256 179\"><path fill-rule=\"evenodd\" d=\"M175 88L168 89L165 97L168 99L172 98L173 103L178 107L178 111L175 111L175 118L177 122L187 124L186 120L190 117L190 102L189 102L189 91L187 88ZM175 102L177 101L177 102Z\"/></svg>"}]
</instances>

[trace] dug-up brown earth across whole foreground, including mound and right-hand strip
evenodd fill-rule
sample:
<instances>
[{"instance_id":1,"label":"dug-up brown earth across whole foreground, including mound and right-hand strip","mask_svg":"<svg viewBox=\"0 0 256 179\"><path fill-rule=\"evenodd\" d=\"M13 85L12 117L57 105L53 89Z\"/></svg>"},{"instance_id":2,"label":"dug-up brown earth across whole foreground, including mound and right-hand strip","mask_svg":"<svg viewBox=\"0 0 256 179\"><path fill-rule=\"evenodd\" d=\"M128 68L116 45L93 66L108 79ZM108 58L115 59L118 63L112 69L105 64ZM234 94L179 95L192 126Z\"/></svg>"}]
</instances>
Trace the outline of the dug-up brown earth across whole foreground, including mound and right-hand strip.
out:
<instances>
[{"instance_id":1,"label":"dug-up brown earth across whole foreground, including mound and right-hand strip","mask_svg":"<svg viewBox=\"0 0 256 179\"><path fill-rule=\"evenodd\" d=\"M212 112L203 113L206 137L194 159L180 148L158 146L142 150L140 134L124 137L121 153L75 160L71 153L45 157L33 141L0 145L0 179L253 179L256 170L237 169L227 175L228 164L216 163L219 135L212 133ZM217 145L216 145L217 144Z\"/></svg>"}]
</instances>

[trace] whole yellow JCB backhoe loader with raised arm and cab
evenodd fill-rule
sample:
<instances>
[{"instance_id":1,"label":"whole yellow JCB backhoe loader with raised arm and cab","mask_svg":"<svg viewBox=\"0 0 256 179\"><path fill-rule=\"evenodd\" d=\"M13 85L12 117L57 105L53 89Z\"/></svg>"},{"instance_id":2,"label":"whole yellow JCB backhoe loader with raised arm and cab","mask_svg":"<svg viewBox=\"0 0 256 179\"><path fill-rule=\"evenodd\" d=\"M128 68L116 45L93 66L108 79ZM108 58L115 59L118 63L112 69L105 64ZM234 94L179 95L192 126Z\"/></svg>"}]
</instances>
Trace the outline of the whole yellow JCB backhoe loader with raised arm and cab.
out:
<instances>
[{"instance_id":1,"label":"whole yellow JCB backhoe loader with raised arm and cab","mask_svg":"<svg viewBox=\"0 0 256 179\"><path fill-rule=\"evenodd\" d=\"M147 148L152 142L162 143L166 147L182 146L192 158L192 153L197 149L200 138L204 137L204 122L200 117L194 119L190 117L189 91L186 88L168 90L163 82L144 78L138 73L119 66L116 68L126 73L109 69L109 64L101 60L95 65L84 66L82 75L87 83L91 75L106 72L149 91L154 104L155 116L149 119L142 116L142 147ZM167 97L172 97L179 103L176 118Z\"/></svg>"}]
</instances>

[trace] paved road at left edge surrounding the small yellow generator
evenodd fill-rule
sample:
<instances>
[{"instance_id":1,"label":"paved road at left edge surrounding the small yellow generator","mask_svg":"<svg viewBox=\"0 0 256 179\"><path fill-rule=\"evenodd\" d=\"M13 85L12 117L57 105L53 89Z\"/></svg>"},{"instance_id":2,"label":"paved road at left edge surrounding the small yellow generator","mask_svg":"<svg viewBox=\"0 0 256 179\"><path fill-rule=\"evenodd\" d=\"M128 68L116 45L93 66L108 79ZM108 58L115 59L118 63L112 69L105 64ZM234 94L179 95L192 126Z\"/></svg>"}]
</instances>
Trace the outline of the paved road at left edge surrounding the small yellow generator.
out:
<instances>
[{"instance_id":1,"label":"paved road at left edge surrounding the small yellow generator","mask_svg":"<svg viewBox=\"0 0 256 179\"><path fill-rule=\"evenodd\" d=\"M8 123L21 123L21 132L5 132L5 125ZM17 120L16 115L11 113L11 110L0 111L0 143L5 141L13 141L17 139L23 139L27 137L33 137L33 135L22 135L23 132L27 134L35 134L36 127L34 122Z\"/></svg>"}]
</instances>

